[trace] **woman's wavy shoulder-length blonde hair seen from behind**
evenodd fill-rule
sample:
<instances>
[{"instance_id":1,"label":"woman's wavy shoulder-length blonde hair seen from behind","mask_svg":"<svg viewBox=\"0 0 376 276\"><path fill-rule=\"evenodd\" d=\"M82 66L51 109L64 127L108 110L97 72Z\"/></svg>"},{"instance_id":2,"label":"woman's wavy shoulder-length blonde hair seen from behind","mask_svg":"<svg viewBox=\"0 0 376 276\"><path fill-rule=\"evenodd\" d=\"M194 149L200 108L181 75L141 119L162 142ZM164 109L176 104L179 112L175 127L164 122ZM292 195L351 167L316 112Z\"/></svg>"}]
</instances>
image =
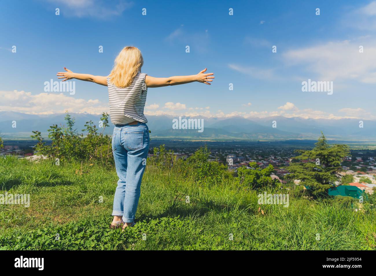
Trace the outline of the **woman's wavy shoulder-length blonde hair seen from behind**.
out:
<instances>
[{"instance_id":1,"label":"woman's wavy shoulder-length blonde hair seen from behind","mask_svg":"<svg viewBox=\"0 0 376 276\"><path fill-rule=\"evenodd\" d=\"M135 76L141 72L143 64L144 59L138 48L124 47L116 57L114 67L109 74L111 82L118 87L130 86Z\"/></svg>"}]
</instances>

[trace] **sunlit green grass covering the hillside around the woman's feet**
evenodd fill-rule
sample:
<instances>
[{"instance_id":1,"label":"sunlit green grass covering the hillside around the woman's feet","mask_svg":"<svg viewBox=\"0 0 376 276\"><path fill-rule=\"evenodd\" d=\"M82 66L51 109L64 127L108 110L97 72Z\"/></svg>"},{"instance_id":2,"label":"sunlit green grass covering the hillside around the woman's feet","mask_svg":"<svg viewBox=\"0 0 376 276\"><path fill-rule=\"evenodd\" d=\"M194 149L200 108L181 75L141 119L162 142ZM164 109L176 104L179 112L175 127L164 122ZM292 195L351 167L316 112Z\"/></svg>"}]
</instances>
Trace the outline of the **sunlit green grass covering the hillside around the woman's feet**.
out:
<instances>
[{"instance_id":1,"label":"sunlit green grass covering the hillside around the woman's feet","mask_svg":"<svg viewBox=\"0 0 376 276\"><path fill-rule=\"evenodd\" d=\"M290 198L287 208L262 205L262 215L258 192L239 188L231 179L198 185L174 170L153 166L147 167L143 178L136 226L124 232L110 230L116 183L114 169L96 165L83 165L81 171L80 164L0 160L0 193L30 194L28 208L0 205L0 248L374 250L376 246L376 219L362 212L330 201Z\"/></svg>"}]
</instances>

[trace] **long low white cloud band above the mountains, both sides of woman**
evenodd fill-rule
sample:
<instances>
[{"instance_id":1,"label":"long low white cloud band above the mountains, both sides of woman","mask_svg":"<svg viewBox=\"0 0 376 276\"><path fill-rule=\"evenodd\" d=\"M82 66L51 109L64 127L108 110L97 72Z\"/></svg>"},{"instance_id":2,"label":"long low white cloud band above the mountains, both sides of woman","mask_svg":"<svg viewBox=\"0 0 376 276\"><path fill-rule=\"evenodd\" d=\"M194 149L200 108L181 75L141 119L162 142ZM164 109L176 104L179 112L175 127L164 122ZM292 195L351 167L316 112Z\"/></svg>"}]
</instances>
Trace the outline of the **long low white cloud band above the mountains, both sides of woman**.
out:
<instances>
[{"instance_id":1,"label":"long low white cloud band above the mountains, both sides of woman","mask_svg":"<svg viewBox=\"0 0 376 276\"><path fill-rule=\"evenodd\" d=\"M0 111L14 111L27 114L49 115L55 113L64 113L65 111L71 113L89 113L102 114L109 112L107 103L99 100L84 100L70 97L69 94L53 94L40 93L32 95L31 92L25 91L0 91ZM190 107L187 108L185 104L181 103L165 103L163 108L158 104L151 104L145 107L145 115L170 115L170 116L205 116L230 118L233 116L249 117L270 117L270 116L285 116L287 118L301 117L311 119L341 119L341 118L359 118L375 120L376 116L370 112L366 112L361 108L343 108L338 110L340 115L323 112L321 110L303 109L299 110L293 103L287 102L277 110L264 110L250 112L223 112L218 110L217 113L212 114L209 107Z\"/></svg>"}]
</instances>

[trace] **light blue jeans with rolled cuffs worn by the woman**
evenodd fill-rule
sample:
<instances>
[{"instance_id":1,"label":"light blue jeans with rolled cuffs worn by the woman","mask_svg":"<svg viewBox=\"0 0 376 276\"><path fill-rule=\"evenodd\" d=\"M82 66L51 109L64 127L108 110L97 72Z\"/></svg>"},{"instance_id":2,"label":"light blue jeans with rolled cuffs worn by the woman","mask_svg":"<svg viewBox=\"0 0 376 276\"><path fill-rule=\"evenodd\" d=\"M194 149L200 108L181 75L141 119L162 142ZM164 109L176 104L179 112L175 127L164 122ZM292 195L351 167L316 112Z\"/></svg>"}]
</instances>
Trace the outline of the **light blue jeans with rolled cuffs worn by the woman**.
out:
<instances>
[{"instance_id":1,"label":"light blue jeans with rolled cuffs worn by the woman","mask_svg":"<svg viewBox=\"0 0 376 276\"><path fill-rule=\"evenodd\" d=\"M144 123L115 125L112 152L119 180L112 216L123 216L124 222L133 222L135 219L149 140L149 128Z\"/></svg>"}]
</instances>

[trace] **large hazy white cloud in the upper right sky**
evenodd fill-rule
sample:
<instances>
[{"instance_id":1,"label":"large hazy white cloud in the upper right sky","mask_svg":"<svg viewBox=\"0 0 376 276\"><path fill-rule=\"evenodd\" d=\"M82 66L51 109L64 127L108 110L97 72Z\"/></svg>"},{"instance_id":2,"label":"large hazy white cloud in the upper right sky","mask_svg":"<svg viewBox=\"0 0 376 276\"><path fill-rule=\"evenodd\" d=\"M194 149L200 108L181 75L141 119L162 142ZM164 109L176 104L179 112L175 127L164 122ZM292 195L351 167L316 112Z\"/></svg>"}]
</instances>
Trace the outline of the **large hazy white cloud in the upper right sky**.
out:
<instances>
[{"instance_id":1,"label":"large hazy white cloud in the upper right sky","mask_svg":"<svg viewBox=\"0 0 376 276\"><path fill-rule=\"evenodd\" d=\"M376 1L352 9L340 18L340 23L341 28L349 32L350 29L356 29L353 38L346 37L347 40L343 41L320 42L311 47L290 50L283 55L285 62L305 66L319 80L353 79L361 83L376 83L376 39L371 35L376 30L375 15ZM359 36L359 30L367 33ZM359 53L360 46L363 46L363 53Z\"/></svg>"}]
</instances>

